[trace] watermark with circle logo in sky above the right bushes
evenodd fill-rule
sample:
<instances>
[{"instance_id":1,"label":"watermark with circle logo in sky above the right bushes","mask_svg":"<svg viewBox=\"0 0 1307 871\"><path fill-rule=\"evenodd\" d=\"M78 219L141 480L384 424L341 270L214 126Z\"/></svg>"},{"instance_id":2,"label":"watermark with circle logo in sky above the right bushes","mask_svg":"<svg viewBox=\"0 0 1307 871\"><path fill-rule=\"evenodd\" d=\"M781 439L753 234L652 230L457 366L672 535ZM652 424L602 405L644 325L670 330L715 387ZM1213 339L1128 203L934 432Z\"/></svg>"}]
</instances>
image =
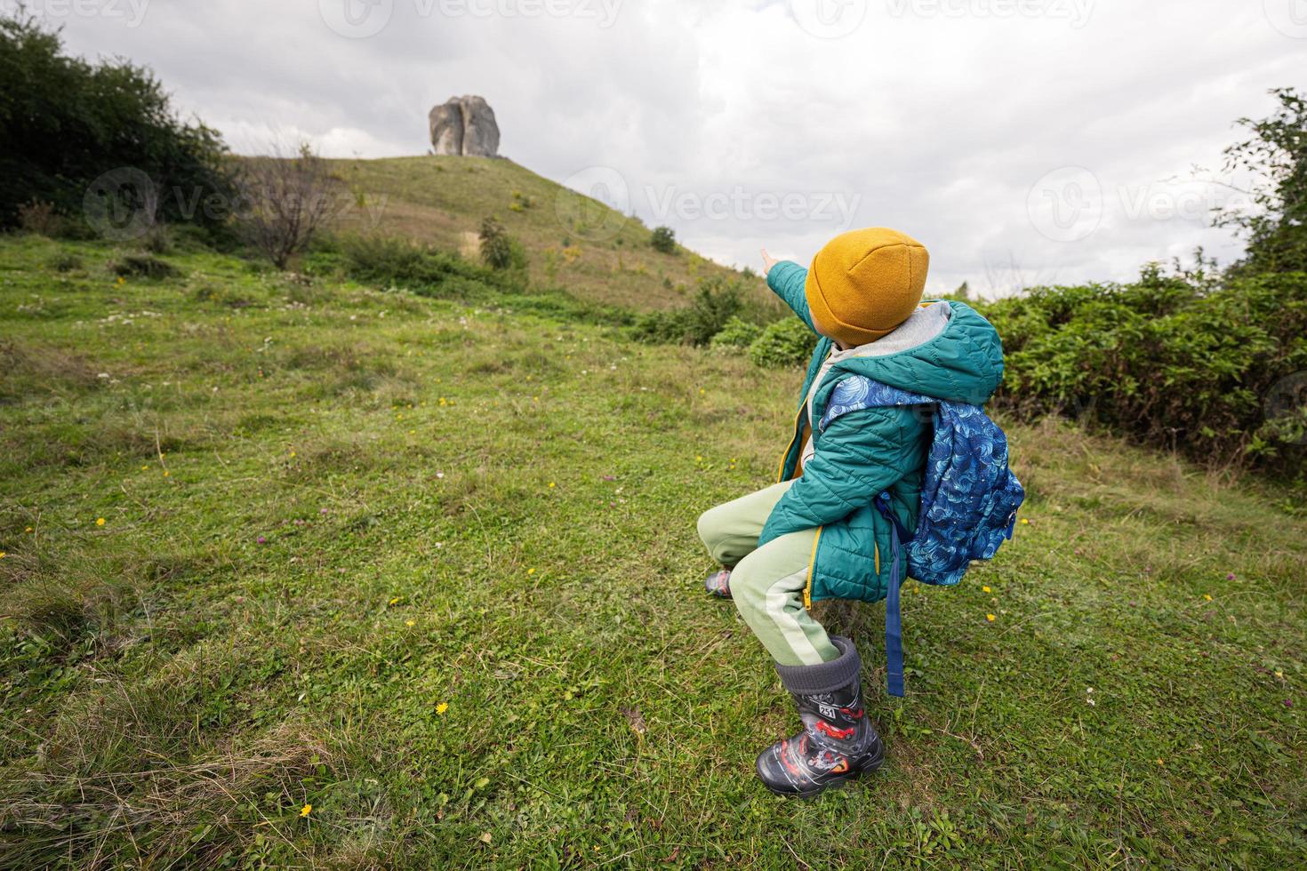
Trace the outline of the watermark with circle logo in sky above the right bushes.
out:
<instances>
[{"instance_id":1,"label":"watermark with circle logo in sky above the right bushes","mask_svg":"<svg viewBox=\"0 0 1307 871\"><path fill-rule=\"evenodd\" d=\"M1208 225L1216 212L1252 208L1247 192L1216 182L1167 180L1119 184L1104 192L1098 178L1082 166L1046 172L1026 196L1026 214L1040 234L1053 242L1080 242L1112 214L1128 222L1185 221Z\"/></svg>"}]
</instances>

